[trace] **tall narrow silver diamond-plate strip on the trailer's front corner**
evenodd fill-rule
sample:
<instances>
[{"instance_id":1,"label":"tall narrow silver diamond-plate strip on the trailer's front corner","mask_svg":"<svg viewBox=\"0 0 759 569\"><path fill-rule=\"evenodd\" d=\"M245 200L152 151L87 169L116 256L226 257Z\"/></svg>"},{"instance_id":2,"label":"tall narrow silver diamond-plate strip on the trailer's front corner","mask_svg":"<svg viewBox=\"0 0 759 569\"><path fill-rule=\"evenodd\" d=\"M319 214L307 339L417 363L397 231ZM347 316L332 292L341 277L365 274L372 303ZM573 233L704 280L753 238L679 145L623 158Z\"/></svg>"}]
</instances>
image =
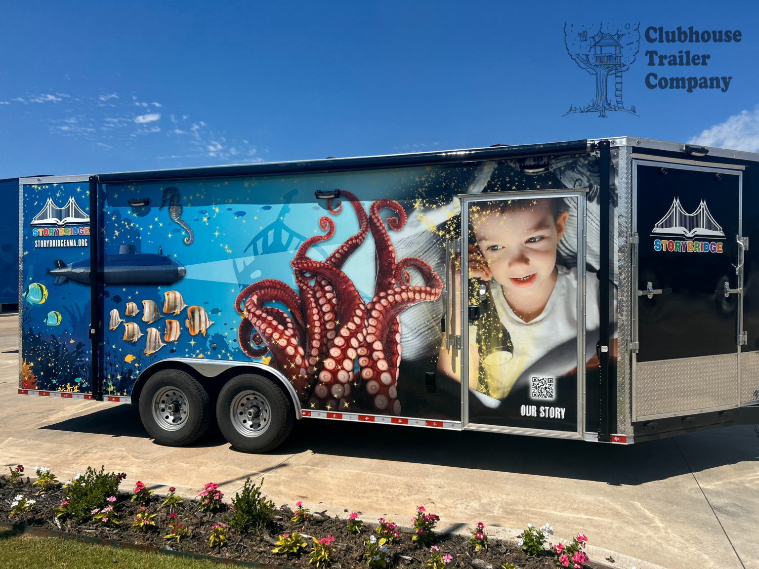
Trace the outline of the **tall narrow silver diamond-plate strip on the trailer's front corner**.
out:
<instances>
[{"instance_id":1,"label":"tall narrow silver diamond-plate strip on the trailer's front corner","mask_svg":"<svg viewBox=\"0 0 759 569\"><path fill-rule=\"evenodd\" d=\"M632 337L632 149L621 146L616 156L616 190L619 196L615 220L617 243L617 433L631 435L631 352ZM612 154L613 159L614 153Z\"/></svg>"}]
</instances>

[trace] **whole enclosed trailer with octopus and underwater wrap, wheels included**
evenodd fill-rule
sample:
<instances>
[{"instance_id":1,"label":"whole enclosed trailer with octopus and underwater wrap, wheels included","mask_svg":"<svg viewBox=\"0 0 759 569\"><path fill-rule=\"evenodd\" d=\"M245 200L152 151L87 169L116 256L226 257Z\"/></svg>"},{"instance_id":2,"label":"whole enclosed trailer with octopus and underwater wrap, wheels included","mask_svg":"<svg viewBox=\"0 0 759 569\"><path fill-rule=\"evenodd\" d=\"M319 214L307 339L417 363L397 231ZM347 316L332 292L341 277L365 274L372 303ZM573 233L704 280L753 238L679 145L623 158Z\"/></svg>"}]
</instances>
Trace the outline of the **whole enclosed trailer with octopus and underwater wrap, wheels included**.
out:
<instances>
[{"instance_id":1,"label":"whole enclosed trailer with octopus and underwater wrap, wheels included","mask_svg":"<svg viewBox=\"0 0 759 569\"><path fill-rule=\"evenodd\" d=\"M759 422L757 158L620 137L21 179L19 393L244 451L301 418Z\"/></svg>"}]
</instances>

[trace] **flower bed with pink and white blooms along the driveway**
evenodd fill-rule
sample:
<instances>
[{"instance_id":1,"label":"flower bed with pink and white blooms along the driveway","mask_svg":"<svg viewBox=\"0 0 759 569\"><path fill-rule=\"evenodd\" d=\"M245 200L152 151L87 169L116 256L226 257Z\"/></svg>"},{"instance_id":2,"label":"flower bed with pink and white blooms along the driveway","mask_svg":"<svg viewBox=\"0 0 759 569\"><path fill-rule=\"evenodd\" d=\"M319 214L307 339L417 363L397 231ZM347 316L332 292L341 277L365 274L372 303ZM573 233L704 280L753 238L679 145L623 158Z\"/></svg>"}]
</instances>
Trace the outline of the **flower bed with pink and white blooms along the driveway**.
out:
<instances>
[{"instance_id":1,"label":"flower bed with pink and white blooms along the driveway","mask_svg":"<svg viewBox=\"0 0 759 569\"><path fill-rule=\"evenodd\" d=\"M40 472L47 478L42 485L33 486L26 476L0 479L0 523L287 567L594 567L583 552L584 536L566 547L543 549L545 534L552 533L547 524L528 527L519 542L501 542L488 539L481 524L471 538L436 533L439 518L418 508L409 518L414 529L403 533L392 520L361 523L356 513L323 517L300 503L296 511L276 508L250 481L229 505L213 483L197 500L183 500L174 489L165 497L153 495L143 483L132 492L119 491L125 475L102 469L88 469L64 484L49 479L49 470Z\"/></svg>"}]
</instances>

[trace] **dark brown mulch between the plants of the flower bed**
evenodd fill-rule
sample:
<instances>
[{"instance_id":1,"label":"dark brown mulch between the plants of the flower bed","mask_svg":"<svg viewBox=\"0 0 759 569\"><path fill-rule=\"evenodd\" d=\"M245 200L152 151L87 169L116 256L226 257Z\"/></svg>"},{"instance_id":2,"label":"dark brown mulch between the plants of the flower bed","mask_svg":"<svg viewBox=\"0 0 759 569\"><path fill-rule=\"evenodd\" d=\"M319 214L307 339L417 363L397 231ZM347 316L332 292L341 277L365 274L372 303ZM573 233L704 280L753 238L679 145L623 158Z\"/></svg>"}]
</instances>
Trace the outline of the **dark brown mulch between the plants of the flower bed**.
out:
<instances>
[{"instance_id":1,"label":"dark brown mulch between the plants of the flower bed","mask_svg":"<svg viewBox=\"0 0 759 569\"><path fill-rule=\"evenodd\" d=\"M8 518L11 510L11 501L17 494L23 494L36 500L32 510L20 516ZM156 529L147 532L131 529L134 516L140 512L139 505L130 501L130 494L118 495L118 500L113 504L118 513L121 523L117 527L97 527L93 523L78 523L69 517L65 520L56 520L53 508L62 500L62 487L58 486L49 492L42 493L34 488L30 479L24 477L22 483L15 483L12 487L0 478L0 523L21 523L32 527L46 527L53 530L62 530L67 533L82 536L115 539L122 542L137 545L150 545L162 549L174 549L175 551L200 553L203 555L217 555L224 558L238 559L242 561L257 561L263 564L282 565L287 567L313 567L309 564L308 550L297 556L286 556L272 553L272 548L277 536L281 533L300 530L302 534L313 536L317 539L333 536L335 543L332 545L335 560L331 567L337 569L358 569L367 567L367 559L364 558L366 545L364 542L374 533L376 522L367 523L358 535L351 535L345 531L345 519L329 517L324 520L313 520L305 524L291 523L292 512L287 506L282 506L275 519L275 526L270 530L260 532L241 533L228 527L227 545L221 549L210 549L208 535L214 523L228 523L227 517L231 511L209 514L198 511L197 501L184 500L182 504L175 505L173 511L177 514L176 520L188 530L186 538L177 543L174 540L168 542L164 539L168 533L168 514L172 511L168 506L160 508L163 498L153 495L146 511L156 514L153 521ZM345 514L347 517L348 514ZM310 538L306 541L313 544ZM453 561L447 569L500 569L504 563L513 563L519 569L549 569L556 567L556 558L546 552L540 557L525 555L515 542L501 542L491 539L490 547L480 552L474 551L474 545L468 543L468 538L439 533L436 536L436 544L441 555L452 555ZM309 547L310 549L310 547ZM429 548L420 547L411 541L411 534L401 533L400 542L391 546L394 555L393 566L398 569L422 569L429 558ZM588 567L597 567L590 564ZM603 567L603 566L600 566Z\"/></svg>"}]
</instances>

